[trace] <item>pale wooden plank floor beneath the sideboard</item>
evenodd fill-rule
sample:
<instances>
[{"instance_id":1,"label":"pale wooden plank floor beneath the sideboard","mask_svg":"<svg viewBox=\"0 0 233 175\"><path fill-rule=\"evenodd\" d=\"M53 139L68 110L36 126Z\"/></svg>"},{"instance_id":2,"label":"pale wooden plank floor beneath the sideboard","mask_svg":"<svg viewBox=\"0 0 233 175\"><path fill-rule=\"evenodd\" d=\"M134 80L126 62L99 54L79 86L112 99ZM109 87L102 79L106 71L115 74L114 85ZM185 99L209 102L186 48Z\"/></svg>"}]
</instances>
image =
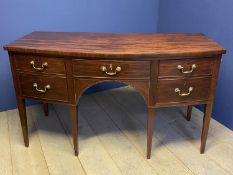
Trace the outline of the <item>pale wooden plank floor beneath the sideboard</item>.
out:
<instances>
[{"instance_id":1,"label":"pale wooden plank floor beneath the sideboard","mask_svg":"<svg viewBox=\"0 0 233 175\"><path fill-rule=\"evenodd\" d=\"M85 95L79 103L79 157L72 149L65 105L27 108L30 146L23 145L17 110L0 113L1 175L233 174L233 132L211 120L206 153L199 153L202 112L156 110L152 156L146 159L146 106L129 87Z\"/></svg>"}]
</instances>

